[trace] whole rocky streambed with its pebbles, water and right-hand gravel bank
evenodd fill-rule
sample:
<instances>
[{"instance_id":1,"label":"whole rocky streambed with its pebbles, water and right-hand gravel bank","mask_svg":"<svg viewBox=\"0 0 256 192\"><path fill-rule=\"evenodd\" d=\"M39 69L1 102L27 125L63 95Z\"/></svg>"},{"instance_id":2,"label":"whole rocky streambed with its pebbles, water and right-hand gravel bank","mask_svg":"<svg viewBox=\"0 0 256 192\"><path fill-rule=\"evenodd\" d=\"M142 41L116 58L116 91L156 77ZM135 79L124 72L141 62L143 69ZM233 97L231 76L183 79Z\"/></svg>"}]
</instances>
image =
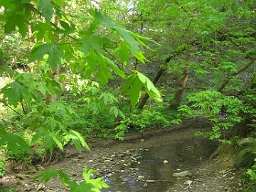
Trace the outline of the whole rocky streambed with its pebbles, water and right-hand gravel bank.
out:
<instances>
[{"instance_id":1,"label":"whole rocky streambed with its pebbles, water and right-hand gravel bank","mask_svg":"<svg viewBox=\"0 0 256 192\"><path fill-rule=\"evenodd\" d=\"M93 178L102 177L110 186L104 191L112 192L240 191L235 170L209 159L218 144L195 137L196 130L157 132L127 142L95 142L91 152L69 154L46 169L60 169L79 182L87 165L97 170ZM20 191L68 191L58 180L38 185L26 174L13 180Z\"/></svg>"}]
</instances>

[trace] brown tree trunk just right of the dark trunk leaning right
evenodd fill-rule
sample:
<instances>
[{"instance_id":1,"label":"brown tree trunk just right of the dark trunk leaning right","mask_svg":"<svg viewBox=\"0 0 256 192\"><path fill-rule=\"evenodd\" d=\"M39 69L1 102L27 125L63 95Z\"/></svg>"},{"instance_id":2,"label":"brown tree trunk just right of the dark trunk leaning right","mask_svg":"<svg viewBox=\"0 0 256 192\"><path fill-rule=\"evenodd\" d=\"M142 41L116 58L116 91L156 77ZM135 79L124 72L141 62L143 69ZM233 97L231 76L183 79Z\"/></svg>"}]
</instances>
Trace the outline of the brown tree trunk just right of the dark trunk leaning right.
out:
<instances>
[{"instance_id":1,"label":"brown tree trunk just right of the dark trunk leaning right","mask_svg":"<svg viewBox=\"0 0 256 192\"><path fill-rule=\"evenodd\" d=\"M181 105L181 100L183 97L183 92L186 88L186 83L188 82L189 73L188 70L184 70L183 78L179 84L178 90L174 93L174 100L170 103L171 110L177 110L178 106Z\"/></svg>"}]
</instances>

